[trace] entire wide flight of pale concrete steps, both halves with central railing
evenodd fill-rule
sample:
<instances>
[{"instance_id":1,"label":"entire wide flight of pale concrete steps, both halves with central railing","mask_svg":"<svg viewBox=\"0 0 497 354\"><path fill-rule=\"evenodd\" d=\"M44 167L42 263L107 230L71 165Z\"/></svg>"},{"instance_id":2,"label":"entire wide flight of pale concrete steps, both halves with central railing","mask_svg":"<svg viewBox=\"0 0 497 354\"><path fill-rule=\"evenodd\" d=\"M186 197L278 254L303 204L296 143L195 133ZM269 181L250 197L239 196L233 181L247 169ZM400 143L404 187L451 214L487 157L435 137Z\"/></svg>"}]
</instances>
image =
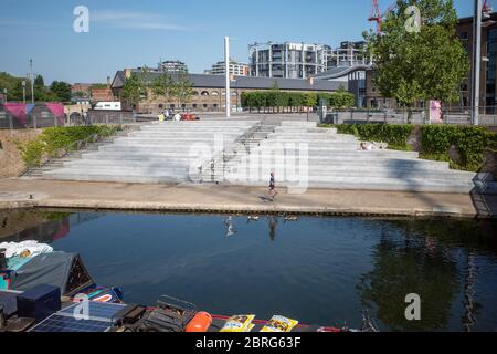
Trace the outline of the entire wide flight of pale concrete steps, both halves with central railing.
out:
<instances>
[{"instance_id":1,"label":"entire wide flight of pale concrete steps, both halves with central railing","mask_svg":"<svg viewBox=\"0 0 497 354\"><path fill-rule=\"evenodd\" d=\"M359 149L360 142L316 123L167 122L145 125L44 178L121 183L195 183L358 190L469 192L476 174L451 170L414 152ZM486 183L489 186L489 183Z\"/></svg>"}]
</instances>

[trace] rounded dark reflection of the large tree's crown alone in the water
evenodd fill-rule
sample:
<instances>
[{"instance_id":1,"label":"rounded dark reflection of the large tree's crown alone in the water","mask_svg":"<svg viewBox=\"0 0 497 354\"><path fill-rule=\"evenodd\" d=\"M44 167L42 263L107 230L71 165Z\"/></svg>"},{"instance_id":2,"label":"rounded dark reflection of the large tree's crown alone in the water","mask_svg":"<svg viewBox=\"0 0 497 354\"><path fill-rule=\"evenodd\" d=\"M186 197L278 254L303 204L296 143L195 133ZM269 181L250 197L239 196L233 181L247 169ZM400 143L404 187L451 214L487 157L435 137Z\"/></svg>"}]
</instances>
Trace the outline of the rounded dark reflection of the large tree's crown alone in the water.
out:
<instances>
[{"instance_id":1,"label":"rounded dark reflection of the large tree's crown alone in the water","mask_svg":"<svg viewBox=\"0 0 497 354\"><path fill-rule=\"evenodd\" d=\"M364 305L376 308L378 319L393 331L436 331L447 325L459 285L457 262L426 241L406 237L399 242L384 235L373 251L373 270L360 281ZM421 296L422 321L405 319L405 296L411 293Z\"/></svg>"}]
</instances>

